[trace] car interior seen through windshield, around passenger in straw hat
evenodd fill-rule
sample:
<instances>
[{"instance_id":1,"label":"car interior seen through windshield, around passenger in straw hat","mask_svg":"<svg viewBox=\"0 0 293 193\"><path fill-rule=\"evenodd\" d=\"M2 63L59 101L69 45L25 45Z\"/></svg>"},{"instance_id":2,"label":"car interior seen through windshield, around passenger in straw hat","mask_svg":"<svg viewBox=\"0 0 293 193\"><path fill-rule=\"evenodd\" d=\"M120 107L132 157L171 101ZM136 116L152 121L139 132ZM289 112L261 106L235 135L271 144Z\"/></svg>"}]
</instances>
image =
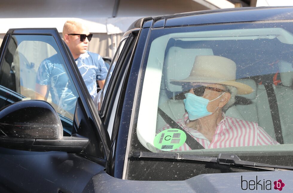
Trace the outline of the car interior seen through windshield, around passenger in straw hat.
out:
<instances>
[{"instance_id":1,"label":"car interior seen through windshield, around passenger in straw hat","mask_svg":"<svg viewBox=\"0 0 293 193\"><path fill-rule=\"evenodd\" d=\"M283 28L262 28L175 33L155 39L150 46L138 113L137 136L141 144L158 151L152 145L157 133L153 127L159 130L167 124L158 108L173 121L186 112L184 90L170 80L188 77L197 55L233 60L236 81L253 89L250 94L236 95L226 116L256 122L280 144L292 144L292 37ZM150 88L152 96L148 94ZM149 101L158 101L158 106Z\"/></svg>"}]
</instances>

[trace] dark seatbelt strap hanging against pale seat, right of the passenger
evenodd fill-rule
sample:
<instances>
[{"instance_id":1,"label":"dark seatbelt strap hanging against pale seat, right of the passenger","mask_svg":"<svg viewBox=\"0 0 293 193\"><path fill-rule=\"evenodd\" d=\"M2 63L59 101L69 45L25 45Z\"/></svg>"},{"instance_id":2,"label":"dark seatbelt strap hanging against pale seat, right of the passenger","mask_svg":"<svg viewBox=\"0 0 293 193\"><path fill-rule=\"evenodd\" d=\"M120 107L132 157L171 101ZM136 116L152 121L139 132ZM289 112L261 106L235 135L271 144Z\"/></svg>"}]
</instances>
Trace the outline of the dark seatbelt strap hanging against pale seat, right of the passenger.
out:
<instances>
[{"instance_id":1,"label":"dark seatbelt strap hanging against pale seat, right of the passenger","mask_svg":"<svg viewBox=\"0 0 293 193\"><path fill-rule=\"evenodd\" d=\"M270 105L271 117L273 120L273 125L275 130L275 136L276 136L277 142L279 142L280 144L283 144L284 140L282 135L281 120L280 120L278 103L277 103L274 87L272 84L264 84L264 86L268 96L268 104Z\"/></svg>"}]
</instances>

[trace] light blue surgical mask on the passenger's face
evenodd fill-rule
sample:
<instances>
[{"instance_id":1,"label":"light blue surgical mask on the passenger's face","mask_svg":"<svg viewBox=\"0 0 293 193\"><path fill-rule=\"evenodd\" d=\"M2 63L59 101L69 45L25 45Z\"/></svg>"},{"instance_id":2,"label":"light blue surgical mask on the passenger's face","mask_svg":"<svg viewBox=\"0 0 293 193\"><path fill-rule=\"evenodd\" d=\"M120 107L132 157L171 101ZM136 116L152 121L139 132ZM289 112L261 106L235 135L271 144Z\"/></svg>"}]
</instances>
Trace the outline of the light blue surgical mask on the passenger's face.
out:
<instances>
[{"instance_id":1,"label":"light blue surgical mask on the passenger's face","mask_svg":"<svg viewBox=\"0 0 293 193\"><path fill-rule=\"evenodd\" d=\"M217 98L211 100L214 101L218 98L220 98L225 92L223 92L220 96ZM186 99L184 99L184 105L185 109L187 110L189 120L196 120L208 115L211 115L213 113L207 111L207 104L210 102L208 99L196 96L191 93L186 93L185 94ZM219 107L216 108L216 110ZM216 112L215 110L215 112Z\"/></svg>"}]
</instances>

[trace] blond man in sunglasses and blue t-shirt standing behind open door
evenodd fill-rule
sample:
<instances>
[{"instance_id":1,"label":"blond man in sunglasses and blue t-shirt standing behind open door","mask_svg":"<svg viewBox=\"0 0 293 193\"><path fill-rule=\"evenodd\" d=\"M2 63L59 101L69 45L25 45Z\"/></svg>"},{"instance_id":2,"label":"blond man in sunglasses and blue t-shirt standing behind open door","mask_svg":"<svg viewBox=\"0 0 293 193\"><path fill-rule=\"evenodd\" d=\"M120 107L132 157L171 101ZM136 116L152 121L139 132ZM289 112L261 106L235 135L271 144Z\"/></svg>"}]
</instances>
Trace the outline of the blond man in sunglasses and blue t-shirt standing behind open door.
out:
<instances>
[{"instance_id":1,"label":"blond man in sunglasses and blue t-shirt standing behind open door","mask_svg":"<svg viewBox=\"0 0 293 193\"><path fill-rule=\"evenodd\" d=\"M97 83L102 89L108 70L99 54L87 51L92 34L89 34L87 26L80 19L66 21L62 33L64 42L71 51L91 98L94 99L97 95ZM76 96L71 87L63 64L56 54L42 61L36 78L36 93L38 93L36 99L47 100L50 92L53 103L74 113Z\"/></svg>"}]
</instances>

